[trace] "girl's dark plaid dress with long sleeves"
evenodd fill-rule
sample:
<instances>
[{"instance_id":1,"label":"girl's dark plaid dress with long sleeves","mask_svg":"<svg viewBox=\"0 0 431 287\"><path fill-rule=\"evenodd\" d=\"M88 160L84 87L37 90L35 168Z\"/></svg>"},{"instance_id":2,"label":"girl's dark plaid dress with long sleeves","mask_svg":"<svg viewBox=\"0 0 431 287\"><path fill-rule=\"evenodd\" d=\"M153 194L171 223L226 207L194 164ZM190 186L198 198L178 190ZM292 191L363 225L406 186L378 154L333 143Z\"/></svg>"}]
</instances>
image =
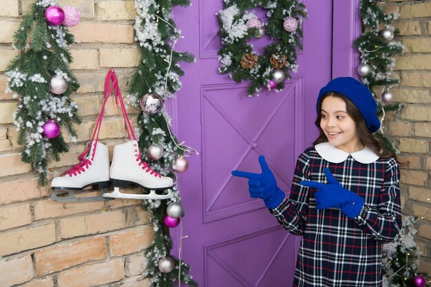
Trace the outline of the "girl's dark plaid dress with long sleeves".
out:
<instances>
[{"instance_id":1,"label":"girl's dark plaid dress with long sleeves","mask_svg":"<svg viewBox=\"0 0 431 287\"><path fill-rule=\"evenodd\" d=\"M339 209L317 210L316 190L299 184L327 183L325 167L344 189L364 198L355 219ZM293 286L381 286L382 244L394 240L401 228L397 162L379 158L361 163L348 155L333 163L309 147L297 160L290 198L271 213L287 231L302 235Z\"/></svg>"}]
</instances>

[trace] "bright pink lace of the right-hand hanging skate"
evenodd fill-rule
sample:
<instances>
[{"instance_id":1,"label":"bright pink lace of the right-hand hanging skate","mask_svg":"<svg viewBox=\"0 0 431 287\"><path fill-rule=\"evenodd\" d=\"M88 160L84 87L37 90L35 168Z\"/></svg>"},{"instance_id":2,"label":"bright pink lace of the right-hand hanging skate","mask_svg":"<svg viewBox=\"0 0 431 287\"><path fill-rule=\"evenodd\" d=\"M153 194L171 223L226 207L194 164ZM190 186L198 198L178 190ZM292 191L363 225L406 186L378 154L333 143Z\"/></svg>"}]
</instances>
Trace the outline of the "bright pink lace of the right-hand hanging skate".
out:
<instances>
[{"instance_id":1,"label":"bright pink lace of the right-hand hanging skate","mask_svg":"<svg viewBox=\"0 0 431 287\"><path fill-rule=\"evenodd\" d=\"M111 81L112 81L112 85L111 87L109 87L109 84L111 83ZM118 87L118 79L115 75L114 69L108 72L105 79L105 100L107 97L109 97L110 94L112 94L112 92L114 92L115 103L117 107L118 107L118 101L120 102L120 107L121 107L121 111L123 112L124 123L127 131L127 137L129 138L129 140L136 140L136 136L133 131L132 124L130 123L129 116L127 116L127 111L123 102L123 96L121 95L120 87ZM135 147L134 151L136 152L135 153L136 162L138 162L139 166L142 166L142 169L145 169L145 172L151 174L152 176L162 178L162 175L160 175L160 173L152 170L151 167L149 167L149 164L147 162L143 162L141 160L139 147Z\"/></svg>"}]
</instances>

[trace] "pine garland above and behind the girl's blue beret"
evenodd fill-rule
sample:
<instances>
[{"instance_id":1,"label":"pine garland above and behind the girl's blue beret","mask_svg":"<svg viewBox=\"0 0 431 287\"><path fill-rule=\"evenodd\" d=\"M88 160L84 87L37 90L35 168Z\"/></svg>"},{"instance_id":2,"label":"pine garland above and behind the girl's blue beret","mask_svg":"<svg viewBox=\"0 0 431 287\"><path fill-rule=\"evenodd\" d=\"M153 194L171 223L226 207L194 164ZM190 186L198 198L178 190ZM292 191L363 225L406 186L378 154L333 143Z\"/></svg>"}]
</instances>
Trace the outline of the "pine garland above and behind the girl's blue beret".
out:
<instances>
[{"instance_id":1,"label":"pine garland above and behind the girl's blue beret","mask_svg":"<svg viewBox=\"0 0 431 287\"><path fill-rule=\"evenodd\" d=\"M368 85L377 102L377 115L383 122L386 111L398 111L401 103L389 103L390 100L381 99L383 92L390 92L389 88L399 83L392 75L395 67L395 57L403 53L403 45L397 41L383 38L383 32L390 35L399 31L392 26L397 14L386 14L375 0L362 0L359 11L361 14L363 33L355 41L354 46L361 53L361 65L368 65L370 72L361 77ZM383 128L375 133L383 147L388 151L397 152L395 146L383 134Z\"/></svg>"}]
</instances>

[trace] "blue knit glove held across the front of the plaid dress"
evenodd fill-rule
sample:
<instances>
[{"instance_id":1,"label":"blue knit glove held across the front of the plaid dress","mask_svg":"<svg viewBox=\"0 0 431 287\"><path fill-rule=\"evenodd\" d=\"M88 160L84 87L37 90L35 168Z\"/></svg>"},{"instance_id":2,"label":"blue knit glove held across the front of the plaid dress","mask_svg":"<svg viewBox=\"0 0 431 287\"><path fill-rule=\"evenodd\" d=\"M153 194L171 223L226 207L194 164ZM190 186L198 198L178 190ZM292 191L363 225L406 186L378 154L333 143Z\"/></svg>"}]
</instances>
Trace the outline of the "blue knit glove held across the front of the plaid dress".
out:
<instances>
[{"instance_id":1,"label":"blue knit glove held across the front of the plaid dress","mask_svg":"<svg viewBox=\"0 0 431 287\"><path fill-rule=\"evenodd\" d=\"M352 191L348 191L341 187L341 184L335 179L329 169L326 167L325 176L328 184L312 181L302 181L301 184L305 187L313 187L318 189L315 192L316 209L328 209L333 207L341 209L341 212L349 218L355 218L364 206L364 198Z\"/></svg>"}]
</instances>

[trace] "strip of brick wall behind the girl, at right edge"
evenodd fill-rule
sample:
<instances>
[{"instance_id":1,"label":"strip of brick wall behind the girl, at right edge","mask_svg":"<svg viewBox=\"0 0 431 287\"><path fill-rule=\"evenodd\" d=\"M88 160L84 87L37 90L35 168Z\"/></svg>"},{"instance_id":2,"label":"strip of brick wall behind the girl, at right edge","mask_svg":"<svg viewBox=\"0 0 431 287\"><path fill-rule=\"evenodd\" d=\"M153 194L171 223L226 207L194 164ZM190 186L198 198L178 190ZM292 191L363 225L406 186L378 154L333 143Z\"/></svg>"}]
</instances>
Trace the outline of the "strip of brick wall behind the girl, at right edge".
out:
<instances>
[{"instance_id":1,"label":"strip of brick wall behind the girl, at right edge","mask_svg":"<svg viewBox=\"0 0 431 287\"><path fill-rule=\"evenodd\" d=\"M397 40L406 47L395 67L400 84L392 89L403 109L388 116L386 134L400 160L410 162L410 168L401 169L403 213L421 216L431 208L431 1L390 0L385 9L401 15L395 22L401 31ZM431 211L416 226L420 269L431 275Z\"/></svg>"}]
</instances>

